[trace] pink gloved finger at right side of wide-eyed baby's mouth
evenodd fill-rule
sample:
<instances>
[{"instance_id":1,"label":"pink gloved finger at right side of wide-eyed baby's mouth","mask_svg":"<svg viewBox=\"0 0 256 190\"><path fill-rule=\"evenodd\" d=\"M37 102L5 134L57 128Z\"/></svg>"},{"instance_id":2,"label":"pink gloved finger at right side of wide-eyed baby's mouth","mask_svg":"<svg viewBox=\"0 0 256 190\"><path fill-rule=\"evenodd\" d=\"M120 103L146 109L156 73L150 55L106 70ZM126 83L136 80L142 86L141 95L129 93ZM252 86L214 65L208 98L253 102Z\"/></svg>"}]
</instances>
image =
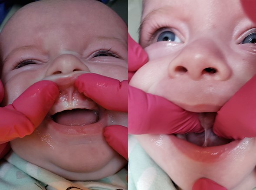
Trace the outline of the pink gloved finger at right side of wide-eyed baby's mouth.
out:
<instances>
[{"instance_id":1,"label":"pink gloved finger at right side of wide-eyed baby's mouth","mask_svg":"<svg viewBox=\"0 0 256 190\"><path fill-rule=\"evenodd\" d=\"M219 137L242 139L256 136L256 75L217 112L213 132Z\"/></svg>"}]
</instances>

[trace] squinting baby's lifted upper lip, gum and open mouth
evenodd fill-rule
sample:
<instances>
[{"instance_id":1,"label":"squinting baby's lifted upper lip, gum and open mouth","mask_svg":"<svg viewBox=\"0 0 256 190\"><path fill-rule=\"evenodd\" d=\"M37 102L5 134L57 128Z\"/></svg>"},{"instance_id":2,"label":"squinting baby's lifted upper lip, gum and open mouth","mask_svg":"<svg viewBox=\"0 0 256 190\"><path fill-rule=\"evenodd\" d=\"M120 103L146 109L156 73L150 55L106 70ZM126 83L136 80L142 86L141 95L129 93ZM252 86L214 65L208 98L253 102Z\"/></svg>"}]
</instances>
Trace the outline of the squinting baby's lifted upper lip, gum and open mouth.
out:
<instances>
[{"instance_id":1,"label":"squinting baby's lifted upper lip, gum and open mouth","mask_svg":"<svg viewBox=\"0 0 256 190\"><path fill-rule=\"evenodd\" d=\"M85 126L95 124L101 119L100 105L86 97L74 86L75 79L81 72L70 75L56 75L48 80L56 82L59 87L59 97L49 111L50 118L57 124L64 126Z\"/></svg>"}]
</instances>

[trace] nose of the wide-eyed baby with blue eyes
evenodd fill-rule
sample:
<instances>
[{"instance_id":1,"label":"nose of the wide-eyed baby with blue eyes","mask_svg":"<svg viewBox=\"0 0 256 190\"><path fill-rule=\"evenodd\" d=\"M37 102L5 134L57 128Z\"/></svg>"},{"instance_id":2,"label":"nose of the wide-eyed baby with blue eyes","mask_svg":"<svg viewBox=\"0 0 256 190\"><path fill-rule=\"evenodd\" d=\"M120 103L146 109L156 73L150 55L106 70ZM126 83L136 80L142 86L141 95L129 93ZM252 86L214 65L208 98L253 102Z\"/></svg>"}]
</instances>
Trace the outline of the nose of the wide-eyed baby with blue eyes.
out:
<instances>
[{"instance_id":1,"label":"nose of the wide-eyed baby with blue eyes","mask_svg":"<svg viewBox=\"0 0 256 190\"><path fill-rule=\"evenodd\" d=\"M211 39L197 39L181 50L168 66L171 78L188 75L193 80L203 77L224 81L230 78L221 49Z\"/></svg>"}]
</instances>

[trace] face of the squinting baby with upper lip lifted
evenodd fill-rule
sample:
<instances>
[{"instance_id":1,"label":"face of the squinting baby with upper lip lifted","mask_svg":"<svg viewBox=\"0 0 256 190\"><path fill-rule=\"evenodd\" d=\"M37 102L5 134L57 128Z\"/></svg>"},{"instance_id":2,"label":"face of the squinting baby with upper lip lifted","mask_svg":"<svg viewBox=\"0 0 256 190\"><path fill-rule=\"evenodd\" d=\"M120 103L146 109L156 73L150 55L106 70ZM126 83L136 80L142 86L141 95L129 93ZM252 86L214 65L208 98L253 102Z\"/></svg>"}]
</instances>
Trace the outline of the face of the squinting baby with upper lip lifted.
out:
<instances>
[{"instance_id":1,"label":"face of the squinting baby with upper lip lifted","mask_svg":"<svg viewBox=\"0 0 256 190\"><path fill-rule=\"evenodd\" d=\"M42 79L60 89L33 134L11 142L13 151L70 180L97 180L124 167L103 129L127 126L127 115L105 110L74 88L86 72L127 79L127 27L117 14L95 0L38 1L16 13L0 41L5 105Z\"/></svg>"}]
</instances>

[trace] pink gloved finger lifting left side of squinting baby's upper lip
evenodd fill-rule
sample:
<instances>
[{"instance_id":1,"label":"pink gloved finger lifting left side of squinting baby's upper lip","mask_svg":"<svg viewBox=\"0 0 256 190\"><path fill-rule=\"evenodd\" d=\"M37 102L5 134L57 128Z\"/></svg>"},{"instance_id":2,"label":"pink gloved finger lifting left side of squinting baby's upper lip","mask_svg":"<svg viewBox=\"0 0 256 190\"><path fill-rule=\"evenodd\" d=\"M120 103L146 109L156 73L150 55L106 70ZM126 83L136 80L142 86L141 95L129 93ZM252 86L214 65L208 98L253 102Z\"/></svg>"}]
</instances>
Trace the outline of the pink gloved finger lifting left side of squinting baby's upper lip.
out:
<instances>
[{"instance_id":1,"label":"pink gloved finger lifting left side of squinting baby's upper lip","mask_svg":"<svg viewBox=\"0 0 256 190\"><path fill-rule=\"evenodd\" d=\"M59 95L58 86L52 81L39 81L26 89L14 102L9 105L11 110L26 115L34 126L38 126ZM19 123L15 119L13 122Z\"/></svg>"}]
</instances>

